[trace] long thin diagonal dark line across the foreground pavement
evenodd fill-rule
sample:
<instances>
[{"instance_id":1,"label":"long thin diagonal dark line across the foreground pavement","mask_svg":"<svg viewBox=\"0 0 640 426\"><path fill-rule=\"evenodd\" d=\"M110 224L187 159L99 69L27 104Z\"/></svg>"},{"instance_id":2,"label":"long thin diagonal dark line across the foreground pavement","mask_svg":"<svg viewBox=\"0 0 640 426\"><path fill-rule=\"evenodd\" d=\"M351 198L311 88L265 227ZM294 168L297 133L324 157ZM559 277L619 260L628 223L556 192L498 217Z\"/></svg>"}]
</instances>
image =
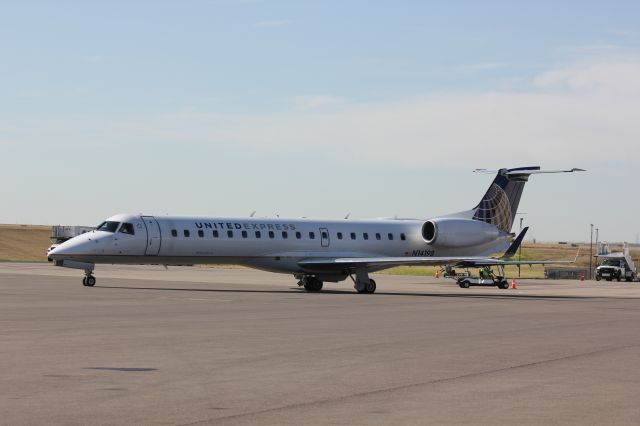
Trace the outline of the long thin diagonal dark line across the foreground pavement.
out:
<instances>
[{"instance_id":1,"label":"long thin diagonal dark line across the foreground pavement","mask_svg":"<svg viewBox=\"0 0 640 426\"><path fill-rule=\"evenodd\" d=\"M550 364L550 363L554 363L554 362L565 361L565 360L568 360L568 359L583 358L583 357L589 357L589 356L593 356L593 355L601 355L601 354L604 354L604 353L607 353L607 352L615 352L615 351L620 351L620 350L637 348L639 346L640 346L640 344L634 344L634 345L616 346L616 347L613 347L613 348L598 349L598 350L591 351L591 352L584 352L584 353L580 353L580 354L567 355L567 356L562 356L562 357L558 357L558 358L544 359L544 360L541 360L541 361L528 362L528 363L525 363L525 364L511 365L511 366L504 367L504 368L497 368L497 369L493 369L493 370L478 371L478 372L475 372L475 373L462 374L462 375L459 375L459 376L443 377L441 379L427 380L425 382L409 383L409 384L406 384L406 385L392 386L392 387L388 387L388 388L376 389L376 390L367 391L367 392L354 393L354 394L351 394L351 395L343 395L343 396L335 397L335 398L325 398L325 399L319 399L319 400L316 400L316 401L299 402L299 403L295 403L295 404L282 405L282 406L279 406L279 407L266 408L264 410L257 410L257 411L247 412L247 413L232 414L232 415L223 416L223 417L211 417L211 418L205 419L205 420L198 420L198 421L190 422L190 423L181 423L180 426L192 426L192 425L208 424L208 423L210 424L210 423L214 423L214 422L218 422L218 421L233 420L233 419L238 419L238 418L242 418L242 417L259 416L259 415L262 415L262 414L274 413L274 412L277 412L277 411L284 411L284 410L289 410L289 409L292 409L292 408L299 408L299 407L313 406L313 405L331 404L333 402L339 402L339 401L344 401L344 400L349 400L349 399L355 399L355 398L360 398L360 397L364 397L364 396L380 395L380 394L385 394L385 393L390 393L390 392L396 392L396 391L399 391L399 390L419 388L419 387L427 386L427 385L436 385L436 384L454 382L454 381L457 381L457 380L464 380L464 379L469 379L469 378L474 378L474 377L488 376L488 375L495 374L495 373L502 373L502 372L510 371L510 370L535 367L535 366L538 366L538 365Z\"/></svg>"}]
</instances>

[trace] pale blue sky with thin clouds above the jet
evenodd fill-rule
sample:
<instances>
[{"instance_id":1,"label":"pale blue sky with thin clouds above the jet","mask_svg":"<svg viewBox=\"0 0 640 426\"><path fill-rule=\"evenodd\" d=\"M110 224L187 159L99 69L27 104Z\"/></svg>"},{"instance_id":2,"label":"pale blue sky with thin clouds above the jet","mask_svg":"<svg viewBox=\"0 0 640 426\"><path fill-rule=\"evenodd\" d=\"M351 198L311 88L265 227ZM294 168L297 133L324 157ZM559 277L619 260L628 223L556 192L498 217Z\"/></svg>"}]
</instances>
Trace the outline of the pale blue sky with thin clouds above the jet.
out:
<instances>
[{"instance_id":1,"label":"pale blue sky with thin clouds above the jet","mask_svg":"<svg viewBox=\"0 0 640 426\"><path fill-rule=\"evenodd\" d=\"M536 176L541 240L640 231L637 1L8 1L0 222L432 217ZM615 200L611 204L605 200Z\"/></svg>"}]
</instances>

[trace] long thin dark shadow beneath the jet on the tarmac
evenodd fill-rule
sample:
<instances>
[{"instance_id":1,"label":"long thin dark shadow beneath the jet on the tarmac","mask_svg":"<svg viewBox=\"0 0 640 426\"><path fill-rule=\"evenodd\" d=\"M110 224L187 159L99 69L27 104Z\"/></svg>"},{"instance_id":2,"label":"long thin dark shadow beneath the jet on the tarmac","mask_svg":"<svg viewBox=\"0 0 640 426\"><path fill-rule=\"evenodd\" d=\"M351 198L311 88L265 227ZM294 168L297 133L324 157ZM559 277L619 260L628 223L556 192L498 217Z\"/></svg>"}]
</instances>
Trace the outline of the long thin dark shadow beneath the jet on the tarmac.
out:
<instances>
[{"instance_id":1,"label":"long thin dark shadow beneath the jet on the tarmac","mask_svg":"<svg viewBox=\"0 0 640 426\"><path fill-rule=\"evenodd\" d=\"M152 290L152 291L183 291L183 292L205 292L205 293L265 293L265 294L306 294L310 297L322 296L323 294L354 295L358 297L443 297L443 298L466 298L466 299L523 299L523 300L598 300L598 299L618 299L606 296L570 296L570 295L534 295L534 294L463 294L461 293L413 293L413 292L380 292L373 295L361 295L353 290L322 290L317 293L310 293L302 288L290 287L288 290L246 290L246 289L214 289L214 288L169 288L169 287L133 287L133 286L108 286L96 285L94 288L122 289L122 290ZM508 291L508 290L505 290Z\"/></svg>"}]
</instances>

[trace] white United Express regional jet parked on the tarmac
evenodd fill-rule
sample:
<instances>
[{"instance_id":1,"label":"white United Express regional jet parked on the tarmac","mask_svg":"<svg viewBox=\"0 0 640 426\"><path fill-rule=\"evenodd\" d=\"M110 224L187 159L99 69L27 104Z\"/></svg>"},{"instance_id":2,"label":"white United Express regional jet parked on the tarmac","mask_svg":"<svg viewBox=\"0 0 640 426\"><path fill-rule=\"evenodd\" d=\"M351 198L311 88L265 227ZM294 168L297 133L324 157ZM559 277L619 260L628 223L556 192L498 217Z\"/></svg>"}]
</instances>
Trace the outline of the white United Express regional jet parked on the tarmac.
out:
<instances>
[{"instance_id":1,"label":"white United Express regional jet parked on the tarmac","mask_svg":"<svg viewBox=\"0 0 640 426\"><path fill-rule=\"evenodd\" d=\"M480 170L487 172L486 170ZM532 174L582 171L501 169L471 210L431 219L312 220L171 217L118 214L49 253L55 265L93 269L108 264L240 264L290 273L307 291L348 277L373 293L369 273L398 265L518 264L490 257L509 246L511 226ZM517 239L519 244L520 238ZM514 244L516 244L514 242ZM512 255L512 247L506 255ZM543 262L521 262L522 264ZM548 262L546 262L548 263Z\"/></svg>"}]
</instances>

